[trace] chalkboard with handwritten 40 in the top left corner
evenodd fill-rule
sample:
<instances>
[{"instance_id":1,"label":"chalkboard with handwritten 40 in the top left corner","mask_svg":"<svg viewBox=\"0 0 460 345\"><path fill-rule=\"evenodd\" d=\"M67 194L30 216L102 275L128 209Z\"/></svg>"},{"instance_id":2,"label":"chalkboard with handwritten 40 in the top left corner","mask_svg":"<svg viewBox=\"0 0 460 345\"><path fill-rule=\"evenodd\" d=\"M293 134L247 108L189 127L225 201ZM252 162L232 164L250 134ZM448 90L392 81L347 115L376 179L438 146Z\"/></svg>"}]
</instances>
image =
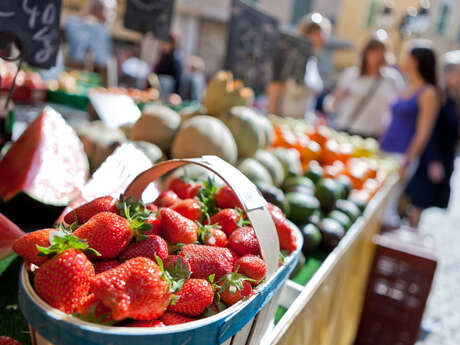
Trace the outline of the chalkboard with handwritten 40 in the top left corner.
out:
<instances>
[{"instance_id":1,"label":"chalkboard with handwritten 40 in the top left corner","mask_svg":"<svg viewBox=\"0 0 460 345\"><path fill-rule=\"evenodd\" d=\"M50 68L59 49L61 0L1 0L0 32L20 42L24 61Z\"/></svg>"}]
</instances>

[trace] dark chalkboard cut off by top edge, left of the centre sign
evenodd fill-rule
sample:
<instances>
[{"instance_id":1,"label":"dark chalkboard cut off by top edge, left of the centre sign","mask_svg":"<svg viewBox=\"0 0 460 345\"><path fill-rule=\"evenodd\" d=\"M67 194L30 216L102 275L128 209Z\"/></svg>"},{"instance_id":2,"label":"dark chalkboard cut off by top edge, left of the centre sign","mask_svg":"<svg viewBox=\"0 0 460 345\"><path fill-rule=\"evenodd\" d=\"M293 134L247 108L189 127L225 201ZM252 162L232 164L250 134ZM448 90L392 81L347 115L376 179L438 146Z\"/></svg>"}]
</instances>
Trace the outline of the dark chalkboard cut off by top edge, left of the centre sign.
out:
<instances>
[{"instance_id":1,"label":"dark chalkboard cut off by top edge, left of the centre sign","mask_svg":"<svg viewBox=\"0 0 460 345\"><path fill-rule=\"evenodd\" d=\"M174 0L127 0L125 28L167 39L173 8Z\"/></svg>"}]
</instances>

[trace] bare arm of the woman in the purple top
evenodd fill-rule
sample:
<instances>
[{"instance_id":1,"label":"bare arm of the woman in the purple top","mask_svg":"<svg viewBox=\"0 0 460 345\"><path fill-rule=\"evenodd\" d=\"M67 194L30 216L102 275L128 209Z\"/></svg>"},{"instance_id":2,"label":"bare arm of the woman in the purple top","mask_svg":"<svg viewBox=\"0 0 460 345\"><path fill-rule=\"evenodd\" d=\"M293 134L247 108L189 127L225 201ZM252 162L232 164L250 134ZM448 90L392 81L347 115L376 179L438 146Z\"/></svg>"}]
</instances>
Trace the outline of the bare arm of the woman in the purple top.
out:
<instances>
[{"instance_id":1,"label":"bare arm of the woman in the purple top","mask_svg":"<svg viewBox=\"0 0 460 345\"><path fill-rule=\"evenodd\" d=\"M406 161L419 157L430 139L439 114L439 97L434 87L424 90L419 98L419 114L414 138L406 152Z\"/></svg>"}]
</instances>

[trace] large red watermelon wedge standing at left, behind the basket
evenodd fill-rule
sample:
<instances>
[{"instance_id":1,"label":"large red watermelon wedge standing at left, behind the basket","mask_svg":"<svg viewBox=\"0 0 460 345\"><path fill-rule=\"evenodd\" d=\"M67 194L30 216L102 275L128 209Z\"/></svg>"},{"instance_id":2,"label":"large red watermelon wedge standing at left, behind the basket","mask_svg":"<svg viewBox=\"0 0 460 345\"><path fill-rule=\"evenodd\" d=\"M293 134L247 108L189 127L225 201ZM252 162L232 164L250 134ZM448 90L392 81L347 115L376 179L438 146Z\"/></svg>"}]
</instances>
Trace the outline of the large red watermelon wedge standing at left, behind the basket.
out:
<instances>
[{"instance_id":1,"label":"large red watermelon wedge standing at left, behind the basket","mask_svg":"<svg viewBox=\"0 0 460 345\"><path fill-rule=\"evenodd\" d=\"M23 228L50 226L87 176L77 134L45 107L0 161L0 211Z\"/></svg>"}]
</instances>

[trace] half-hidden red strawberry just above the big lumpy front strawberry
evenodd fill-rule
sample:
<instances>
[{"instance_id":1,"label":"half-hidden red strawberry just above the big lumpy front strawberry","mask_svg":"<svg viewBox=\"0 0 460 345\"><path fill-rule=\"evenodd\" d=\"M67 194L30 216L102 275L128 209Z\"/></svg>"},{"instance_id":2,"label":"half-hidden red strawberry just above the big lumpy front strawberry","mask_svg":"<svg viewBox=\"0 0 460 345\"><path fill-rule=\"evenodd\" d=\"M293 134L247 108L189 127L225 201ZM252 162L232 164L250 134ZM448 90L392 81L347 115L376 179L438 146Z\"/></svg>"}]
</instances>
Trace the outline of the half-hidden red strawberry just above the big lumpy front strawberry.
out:
<instances>
[{"instance_id":1,"label":"half-hidden red strawberry just above the big lumpy front strawberry","mask_svg":"<svg viewBox=\"0 0 460 345\"><path fill-rule=\"evenodd\" d=\"M143 256L155 260L155 255L164 260L168 256L168 244L160 236L149 235L146 240L130 244L119 257L122 260L129 260Z\"/></svg>"}]
</instances>

